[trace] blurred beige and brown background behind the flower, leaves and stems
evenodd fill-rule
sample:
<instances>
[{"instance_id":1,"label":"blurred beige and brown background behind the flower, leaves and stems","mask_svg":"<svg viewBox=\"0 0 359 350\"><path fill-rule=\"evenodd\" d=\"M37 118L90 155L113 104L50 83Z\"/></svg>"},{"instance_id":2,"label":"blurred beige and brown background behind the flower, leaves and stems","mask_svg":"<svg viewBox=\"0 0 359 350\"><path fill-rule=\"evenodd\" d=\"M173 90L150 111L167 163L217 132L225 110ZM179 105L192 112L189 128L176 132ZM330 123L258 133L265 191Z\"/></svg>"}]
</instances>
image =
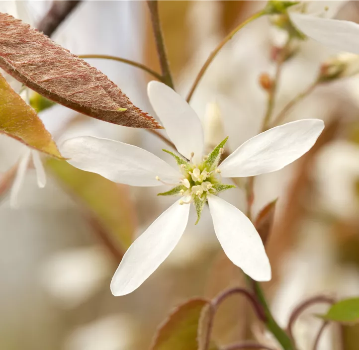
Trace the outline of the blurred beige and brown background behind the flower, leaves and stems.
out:
<instances>
[{"instance_id":1,"label":"blurred beige and brown background behind the flower, leaves and stems","mask_svg":"<svg viewBox=\"0 0 359 350\"><path fill-rule=\"evenodd\" d=\"M16 12L19 2L26 13ZM262 0L159 1L180 94L187 93L220 40L265 4ZM52 5L51 0L1 1L0 11L36 26ZM337 17L359 21L358 1L345 2ZM249 24L220 52L193 95L191 105L203 122L216 104L223 124L217 136L229 136L228 150L261 128L267 92L260 76L274 73L273 53L282 36L267 17ZM52 38L77 55L119 56L159 70L146 1L80 1ZM296 42L283 64L274 115L315 81L323 63L336 54L312 40ZM120 62L87 61L135 105L152 113L146 95L150 76ZM359 58L353 62L358 65ZM56 142L93 135L138 145L167 159L161 151L164 143L144 130L101 122L59 105L40 117ZM285 120L302 118L324 119L326 129L316 146L294 164L258 176L255 182L255 214L279 198L266 243L273 279L263 287L283 327L293 308L312 295L359 294L359 76L320 84ZM0 136L1 350L148 349L174 306L245 285L241 270L222 252L205 209L197 226L191 212L178 247L139 289L112 296L109 282L121 255L173 199L158 199L158 188L117 185L65 162L44 159L46 187L38 188L30 169L19 193L19 207L12 209L6 176L23 152L20 143ZM244 187L245 179L238 189L225 193L242 210L246 209ZM311 349L320 326L313 314L325 308L311 308L296 323L300 349ZM325 331L320 349L339 349L337 331L335 327ZM358 327L344 327L341 336L344 349L358 350ZM214 325L219 345L263 337L267 335L243 298L233 297L222 305Z\"/></svg>"}]
</instances>

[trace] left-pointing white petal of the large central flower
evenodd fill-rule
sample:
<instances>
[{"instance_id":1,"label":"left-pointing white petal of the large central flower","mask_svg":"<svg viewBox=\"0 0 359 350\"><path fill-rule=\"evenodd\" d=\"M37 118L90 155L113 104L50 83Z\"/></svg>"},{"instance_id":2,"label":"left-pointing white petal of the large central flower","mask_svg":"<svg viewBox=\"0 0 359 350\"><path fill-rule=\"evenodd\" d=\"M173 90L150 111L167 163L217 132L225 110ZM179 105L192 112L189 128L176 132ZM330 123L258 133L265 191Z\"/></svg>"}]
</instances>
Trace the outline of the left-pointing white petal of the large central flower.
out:
<instances>
[{"instance_id":1,"label":"left-pointing white petal of the large central flower","mask_svg":"<svg viewBox=\"0 0 359 350\"><path fill-rule=\"evenodd\" d=\"M179 182L181 174L162 159L142 148L92 136L66 140L60 152L76 168L96 173L111 181L132 186L158 186Z\"/></svg>"}]
</instances>

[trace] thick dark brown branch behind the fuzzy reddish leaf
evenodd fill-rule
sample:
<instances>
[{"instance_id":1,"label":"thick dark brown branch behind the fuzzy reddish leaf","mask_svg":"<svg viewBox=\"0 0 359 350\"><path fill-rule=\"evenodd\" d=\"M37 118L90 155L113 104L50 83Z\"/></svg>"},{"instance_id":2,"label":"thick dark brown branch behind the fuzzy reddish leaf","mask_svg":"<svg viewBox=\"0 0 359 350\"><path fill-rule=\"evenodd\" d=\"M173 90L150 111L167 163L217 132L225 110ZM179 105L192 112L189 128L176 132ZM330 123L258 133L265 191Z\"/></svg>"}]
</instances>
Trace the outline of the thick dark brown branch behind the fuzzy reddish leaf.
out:
<instances>
[{"instance_id":1,"label":"thick dark brown branch behind the fuzzy reddish leaf","mask_svg":"<svg viewBox=\"0 0 359 350\"><path fill-rule=\"evenodd\" d=\"M50 10L38 23L37 29L51 36L80 2L81 0L53 1Z\"/></svg>"}]
</instances>

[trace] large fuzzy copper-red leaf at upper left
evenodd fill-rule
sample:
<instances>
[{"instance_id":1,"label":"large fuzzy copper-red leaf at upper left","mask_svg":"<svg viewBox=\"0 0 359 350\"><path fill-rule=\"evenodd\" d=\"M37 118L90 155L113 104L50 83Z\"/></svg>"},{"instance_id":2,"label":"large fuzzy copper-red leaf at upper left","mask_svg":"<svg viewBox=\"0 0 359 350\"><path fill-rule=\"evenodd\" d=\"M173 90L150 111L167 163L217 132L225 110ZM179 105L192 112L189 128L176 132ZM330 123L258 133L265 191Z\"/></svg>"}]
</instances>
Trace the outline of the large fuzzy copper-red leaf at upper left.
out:
<instances>
[{"instance_id":1,"label":"large fuzzy copper-red leaf at upper left","mask_svg":"<svg viewBox=\"0 0 359 350\"><path fill-rule=\"evenodd\" d=\"M0 67L43 96L91 117L160 128L96 68L6 13L0 13Z\"/></svg>"}]
</instances>

